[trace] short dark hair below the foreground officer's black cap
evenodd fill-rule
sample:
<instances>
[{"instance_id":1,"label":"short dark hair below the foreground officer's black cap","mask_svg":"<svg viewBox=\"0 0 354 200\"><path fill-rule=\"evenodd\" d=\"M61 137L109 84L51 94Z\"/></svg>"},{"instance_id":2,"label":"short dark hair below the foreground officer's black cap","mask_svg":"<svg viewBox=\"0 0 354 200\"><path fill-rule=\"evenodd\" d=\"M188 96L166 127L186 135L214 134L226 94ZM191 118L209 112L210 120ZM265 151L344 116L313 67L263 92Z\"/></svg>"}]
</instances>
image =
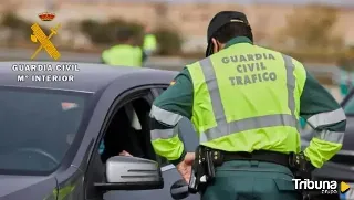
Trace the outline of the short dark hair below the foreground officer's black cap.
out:
<instances>
[{"instance_id":1,"label":"short dark hair below the foreground officer's black cap","mask_svg":"<svg viewBox=\"0 0 354 200\"><path fill-rule=\"evenodd\" d=\"M212 38L217 39L221 43L227 43L236 36L247 36L253 42L251 28L244 23L238 22L231 22L222 25Z\"/></svg>"}]
</instances>

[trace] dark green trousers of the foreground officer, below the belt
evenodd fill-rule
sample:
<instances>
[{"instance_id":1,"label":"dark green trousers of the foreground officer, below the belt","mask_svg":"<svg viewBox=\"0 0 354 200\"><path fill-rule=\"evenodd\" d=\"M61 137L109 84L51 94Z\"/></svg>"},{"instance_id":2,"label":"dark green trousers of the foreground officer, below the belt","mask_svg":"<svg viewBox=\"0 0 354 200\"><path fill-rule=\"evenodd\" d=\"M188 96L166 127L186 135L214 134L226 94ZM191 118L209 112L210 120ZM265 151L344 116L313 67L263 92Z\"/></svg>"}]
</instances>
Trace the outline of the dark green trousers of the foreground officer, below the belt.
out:
<instances>
[{"instance_id":1,"label":"dark green trousers of the foreground officer, below the belt","mask_svg":"<svg viewBox=\"0 0 354 200\"><path fill-rule=\"evenodd\" d=\"M298 200L290 169L261 161L228 161L201 200Z\"/></svg>"}]
</instances>

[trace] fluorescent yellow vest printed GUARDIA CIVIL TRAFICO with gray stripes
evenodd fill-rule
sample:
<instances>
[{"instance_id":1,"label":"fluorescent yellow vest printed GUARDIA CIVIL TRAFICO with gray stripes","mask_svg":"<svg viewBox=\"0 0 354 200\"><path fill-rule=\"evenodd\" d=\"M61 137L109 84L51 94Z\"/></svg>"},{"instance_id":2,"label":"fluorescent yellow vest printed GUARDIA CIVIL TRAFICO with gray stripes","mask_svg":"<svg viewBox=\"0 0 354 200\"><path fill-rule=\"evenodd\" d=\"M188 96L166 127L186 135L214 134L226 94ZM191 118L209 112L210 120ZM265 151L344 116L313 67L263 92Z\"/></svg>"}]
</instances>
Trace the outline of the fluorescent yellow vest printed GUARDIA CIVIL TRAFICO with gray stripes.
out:
<instances>
[{"instance_id":1,"label":"fluorescent yellow vest printed GUARDIA CIVIL TRAFICO with gray stripes","mask_svg":"<svg viewBox=\"0 0 354 200\"><path fill-rule=\"evenodd\" d=\"M194 84L191 122L201 145L226 151L300 150L305 70L298 61L239 43L187 69ZM269 145L278 137L284 144ZM242 143L246 138L251 146Z\"/></svg>"}]
</instances>

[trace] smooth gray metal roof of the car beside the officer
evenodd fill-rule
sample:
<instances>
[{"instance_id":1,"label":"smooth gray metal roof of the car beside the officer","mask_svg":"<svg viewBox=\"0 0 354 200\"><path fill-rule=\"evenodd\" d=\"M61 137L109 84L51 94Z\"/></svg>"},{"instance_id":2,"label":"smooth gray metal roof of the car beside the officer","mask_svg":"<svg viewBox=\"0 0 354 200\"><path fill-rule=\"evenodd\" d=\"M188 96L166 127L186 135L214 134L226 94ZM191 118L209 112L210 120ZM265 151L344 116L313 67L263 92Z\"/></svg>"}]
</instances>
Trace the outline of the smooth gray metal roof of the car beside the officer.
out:
<instances>
[{"instance_id":1,"label":"smooth gray metal roof of the car beside the officer","mask_svg":"<svg viewBox=\"0 0 354 200\"><path fill-rule=\"evenodd\" d=\"M56 65L63 66L64 64L76 64L76 69L79 69L79 71L55 71ZM31 71L33 69L35 69L37 71ZM52 90L95 93L106 87L110 83L114 82L115 80L126 75L139 74L139 77L142 77L142 75L152 76L153 74L154 80L156 77L155 81L158 83L163 80L166 80L166 76L176 75L177 72L72 62L0 62L0 86L43 87ZM21 82L18 81L19 75L24 75L29 78L25 78L25 81ZM71 82L34 82L30 78L33 75L72 75L74 80ZM165 76L165 78L163 78L163 76ZM144 82L144 78L132 78L132 81Z\"/></svg>"}]
</instances>

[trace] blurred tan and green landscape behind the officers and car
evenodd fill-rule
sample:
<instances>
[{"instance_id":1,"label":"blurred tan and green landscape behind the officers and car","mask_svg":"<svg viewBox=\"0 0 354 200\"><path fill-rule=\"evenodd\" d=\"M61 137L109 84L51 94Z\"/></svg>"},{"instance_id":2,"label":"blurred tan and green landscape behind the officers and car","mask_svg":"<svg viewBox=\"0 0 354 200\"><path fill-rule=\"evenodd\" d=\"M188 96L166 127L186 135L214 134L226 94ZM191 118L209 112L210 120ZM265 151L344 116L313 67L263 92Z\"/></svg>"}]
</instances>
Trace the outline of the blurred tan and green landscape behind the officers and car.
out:
<instances>
[{"instance_id":1,"label":"blurred tan and green landscape behind the officers and car","mask_svg":"<svg viewBox=\"0 0 354 200\"><path fill-rule=\"evenodd\" d=\"M61 61L98 63L115 45L114 32L134 31L137 45L148 30L157 50L145 67L181 70L204 57L206 30L221 10L244 12L258 45L303 62L341 101L354 83L353 0L7 0L1 2L0 60L25 61L38 48L31 24L62 24L51 39ZM55 13L41 21L42 12ZM51 60L44 51L37 60Z\"/></svg>"}]
</instances>

